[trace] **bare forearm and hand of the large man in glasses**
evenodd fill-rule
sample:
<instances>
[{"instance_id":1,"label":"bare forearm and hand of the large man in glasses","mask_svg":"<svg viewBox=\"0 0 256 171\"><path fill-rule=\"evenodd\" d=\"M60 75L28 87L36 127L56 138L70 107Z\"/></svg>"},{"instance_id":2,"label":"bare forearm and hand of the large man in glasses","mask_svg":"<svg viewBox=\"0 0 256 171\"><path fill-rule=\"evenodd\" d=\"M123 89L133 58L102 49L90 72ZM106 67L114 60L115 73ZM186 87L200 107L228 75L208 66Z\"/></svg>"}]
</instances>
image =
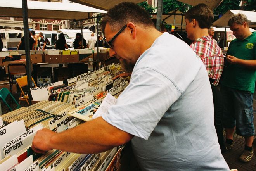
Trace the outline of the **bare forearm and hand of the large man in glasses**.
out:
<instances>
[{"instance_id":1,"label":"bare forearm and hand of the large man in glasses","mask_svg":"<svg viewBox=\"0 0 256 171\"><path fill-rule=\"evenodd\" d=\"M37 131L32 143L35 152L58 149L74 153L94 154L122 145L133 135L107 123L102 117L75 128L55 133L48 129Z\"/></svg>"}]
</instances>

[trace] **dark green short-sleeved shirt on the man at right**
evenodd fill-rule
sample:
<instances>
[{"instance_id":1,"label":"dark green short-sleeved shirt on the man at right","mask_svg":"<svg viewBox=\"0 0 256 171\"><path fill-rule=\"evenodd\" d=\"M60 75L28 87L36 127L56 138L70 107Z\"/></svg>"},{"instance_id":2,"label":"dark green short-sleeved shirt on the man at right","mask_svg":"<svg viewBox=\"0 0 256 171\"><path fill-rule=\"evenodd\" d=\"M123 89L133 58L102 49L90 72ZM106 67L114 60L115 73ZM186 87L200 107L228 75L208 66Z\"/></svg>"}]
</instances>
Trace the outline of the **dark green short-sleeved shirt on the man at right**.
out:
<instances>
[{"instance_id":1,"label":"dark green short-sleeved shirt on the man at right","mask_svg":"<svg viewBox=\"0 0 256 171\"><path fill-rule=\"evenodd\" d=\"M244 40L231 41L227 54L239 59L256 60L256 32ZM254 93L255 79L256 69L228 63L227 67L223 69L221 84Z\"/></svg>"}]
</instances>

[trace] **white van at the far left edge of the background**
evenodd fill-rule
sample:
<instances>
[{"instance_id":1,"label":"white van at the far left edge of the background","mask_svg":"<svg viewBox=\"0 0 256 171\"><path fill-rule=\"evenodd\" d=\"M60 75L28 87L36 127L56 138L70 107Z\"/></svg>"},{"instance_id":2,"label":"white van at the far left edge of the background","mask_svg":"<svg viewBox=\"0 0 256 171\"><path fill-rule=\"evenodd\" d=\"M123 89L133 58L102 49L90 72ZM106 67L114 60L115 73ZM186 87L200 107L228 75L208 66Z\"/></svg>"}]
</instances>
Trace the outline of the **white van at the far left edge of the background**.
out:
<instances>
[{"instance_id":1,"label":"white van at the far left edge of the background","mask_svg":"<svg viewBox=\"0 0 256 171\"><path fill-rule=\"evenodd\" d=\"M0 29L0 35L3 41L3 47L10 50L17 49L17 45L24 36L23 29Z\"/></svg>"}]
</instances>

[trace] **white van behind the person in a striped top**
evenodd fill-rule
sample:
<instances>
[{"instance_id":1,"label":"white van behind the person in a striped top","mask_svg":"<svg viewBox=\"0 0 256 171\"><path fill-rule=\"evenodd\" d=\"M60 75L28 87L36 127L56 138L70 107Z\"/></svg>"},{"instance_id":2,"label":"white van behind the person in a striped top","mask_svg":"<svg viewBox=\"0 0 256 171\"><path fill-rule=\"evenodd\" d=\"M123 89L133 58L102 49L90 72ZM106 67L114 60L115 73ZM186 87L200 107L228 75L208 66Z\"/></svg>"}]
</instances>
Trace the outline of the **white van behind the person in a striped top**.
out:
<instances>
[{"instance_id":1,"label":"white van behind the person in a striped top","mask_svg":"<svg viewBox=\"0 0 256 171\"><path fill-rule=\"evenodd\" d=\"M47 48L52 47L55 48L55 42L59 38L59 34L57 31L48 31L48 30L35 30L36 35L38 36L38 33L42 32L43 36L45 38L48 38L50 41L50 45L47 45ZM67 47L72 47L73 39L71 39L67 34L64 34L67 42ZM39 38L40 39L40 38Z\"/></svg>"}]
</instances>

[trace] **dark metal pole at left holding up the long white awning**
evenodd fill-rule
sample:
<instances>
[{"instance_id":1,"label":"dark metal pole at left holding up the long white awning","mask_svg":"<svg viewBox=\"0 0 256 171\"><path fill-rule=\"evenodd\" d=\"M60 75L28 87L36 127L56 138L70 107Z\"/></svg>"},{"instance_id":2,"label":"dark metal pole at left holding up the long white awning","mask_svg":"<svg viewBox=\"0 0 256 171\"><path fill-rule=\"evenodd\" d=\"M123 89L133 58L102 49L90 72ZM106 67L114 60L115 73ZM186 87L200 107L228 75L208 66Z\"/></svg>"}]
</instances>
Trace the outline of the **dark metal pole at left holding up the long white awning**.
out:
<instances>
[{"instance_id":1,"label":"dark metal pole at left holding up the long white awning","mask_svg":"<svg viewBox=\"0 0 256 171\"><path fill-rule=\"evenodd\" d=\"M25 37L25 52L26 52L26 68L27 68L27 78L28 78L28 100L29 105L31 105L32 95L30 88L32 87L31 78L31 60L30 60L30 48L29 48L29 30L28 30L28 4L27 0L22 0L22 14L23 14L23 25L24 25L24 37Z\"/></svg>"}]
</instances>

